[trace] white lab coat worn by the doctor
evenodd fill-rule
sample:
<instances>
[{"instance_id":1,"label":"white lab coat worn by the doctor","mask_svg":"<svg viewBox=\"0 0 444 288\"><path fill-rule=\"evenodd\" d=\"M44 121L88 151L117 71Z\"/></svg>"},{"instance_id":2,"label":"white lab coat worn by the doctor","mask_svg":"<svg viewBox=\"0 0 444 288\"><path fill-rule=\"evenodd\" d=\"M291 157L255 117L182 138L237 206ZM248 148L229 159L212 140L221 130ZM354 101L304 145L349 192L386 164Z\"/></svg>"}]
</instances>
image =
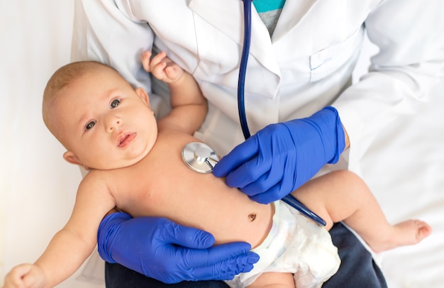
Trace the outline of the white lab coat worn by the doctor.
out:
<instances>
[{"instance_id":1,"label":"white lab coat worn by the doctor","mask_svg":"<svg viewBox=\"0 0 444 288\"><path fill-rule=\"evenodd\" d=\"M153 45L166 50L209 100L196 135L224 155L243 141L236 98L242 11L240 0L78 0L72 60L106 62L151 93L140 55ZM270 39L252 9L250 132L333 105L350 137L353 165L380 128L414 113L442 77L443 15L443 0L287 0ZM380 51L371 72L347 88L365 29Z\"/></svg>"}]
</instances>

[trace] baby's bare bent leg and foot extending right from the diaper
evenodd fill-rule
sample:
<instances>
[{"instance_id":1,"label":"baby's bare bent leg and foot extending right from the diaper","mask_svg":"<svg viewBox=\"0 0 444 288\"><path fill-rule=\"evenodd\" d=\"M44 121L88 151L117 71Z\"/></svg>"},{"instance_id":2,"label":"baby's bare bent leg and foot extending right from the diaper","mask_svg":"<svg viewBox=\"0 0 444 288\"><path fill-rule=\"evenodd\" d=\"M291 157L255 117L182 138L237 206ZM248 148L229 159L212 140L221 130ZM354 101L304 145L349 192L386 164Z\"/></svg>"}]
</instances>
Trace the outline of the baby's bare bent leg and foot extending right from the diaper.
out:
<instances>
[{"instance_id":1,"label":"baby's bare bent leg and foot extending right from the diaper","mask_svg":"<svg viewBox=\"0 0 444 288\"><path fill-rule=\"evenodd\" d=\"M389 224L365 182L350 171L312 179L292 194L326 220L328 230L333 223L344 221L375 252L419 243L431 233L423 221Z\"/></svg>"}]
</instances>

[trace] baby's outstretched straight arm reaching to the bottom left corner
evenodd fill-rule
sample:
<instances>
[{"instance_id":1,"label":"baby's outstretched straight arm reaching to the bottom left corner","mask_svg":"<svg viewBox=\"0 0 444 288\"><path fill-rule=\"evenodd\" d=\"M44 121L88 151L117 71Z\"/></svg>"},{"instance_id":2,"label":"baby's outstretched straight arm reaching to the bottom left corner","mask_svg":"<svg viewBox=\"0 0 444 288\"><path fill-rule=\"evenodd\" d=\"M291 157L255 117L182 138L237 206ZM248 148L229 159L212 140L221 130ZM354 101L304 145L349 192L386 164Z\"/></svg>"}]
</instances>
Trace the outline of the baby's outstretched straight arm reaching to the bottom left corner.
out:
<instances>
[{"instance_id":1,"label":"baby's outstretched straight arm reaching to the bottom left corner","mask_svg":"<svg viewBox=\"0 0 444 288\"><path fill-rule=\"evenodd\" d=\"M33 265L13 267L6 275L4 288L54 287L87 259L96 246L101 219L115 205L109 193L104 196L104 187L96 185L86 189L87 186L82 182L70 220L55 234L45 252Z\"/></svg>"}]
</instances>

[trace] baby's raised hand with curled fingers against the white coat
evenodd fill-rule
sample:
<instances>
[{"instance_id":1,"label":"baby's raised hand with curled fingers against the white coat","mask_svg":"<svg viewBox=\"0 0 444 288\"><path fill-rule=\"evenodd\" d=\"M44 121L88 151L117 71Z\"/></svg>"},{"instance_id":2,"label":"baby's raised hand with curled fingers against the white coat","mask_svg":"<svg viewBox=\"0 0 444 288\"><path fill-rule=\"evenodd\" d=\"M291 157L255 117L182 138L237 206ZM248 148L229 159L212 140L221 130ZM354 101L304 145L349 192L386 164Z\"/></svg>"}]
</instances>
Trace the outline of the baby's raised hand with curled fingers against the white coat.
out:
<instances>
[{"instance_id":1,"label":"baby's raised hand with curled fingers against the white coat","mask_svg":"<svg viewBox=\"0 0 444 288\"><path fill-rule=\"evenodd\" d=\"M151 72L157 79L170 84L177 82L177 80L179 80L184 74L184 70L179 65L172 62L172 60L167 57L165 51L155 55L152 59L150 59L150 57L150 51L145 51L142 54L143 69L147 72Z\"/></svg>"}]
</instances>

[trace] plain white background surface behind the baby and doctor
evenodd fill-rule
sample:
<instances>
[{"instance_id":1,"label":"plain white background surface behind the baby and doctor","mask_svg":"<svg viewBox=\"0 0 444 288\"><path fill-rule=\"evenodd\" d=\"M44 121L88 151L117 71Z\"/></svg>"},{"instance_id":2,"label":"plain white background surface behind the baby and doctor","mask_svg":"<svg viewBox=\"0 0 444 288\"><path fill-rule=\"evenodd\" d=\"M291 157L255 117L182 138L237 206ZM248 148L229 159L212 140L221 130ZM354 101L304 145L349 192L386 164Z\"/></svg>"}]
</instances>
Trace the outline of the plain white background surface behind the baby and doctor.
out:
<instances>
[{"instance_id":1,"label":"plain white background surface behind the baby and doctor","mask_svg":"<svg viewBox=\"0 0 444 288\"><path fill-rule=\"evenodd\" d=\"M73 0L0 0L0 284L13 265L35 261L62 228L82 177L62 159L40 111L47 80L70 60L72 17ZM356 75L375 51L367 43ZM385 128L362 159L362 176L389 221L415 217L433 226L420 245L379 255L389 287L444 285L442 91L444 83L418 116ZM59 287L103 287L78 276Z\"/></svg>"}]
</instances>

